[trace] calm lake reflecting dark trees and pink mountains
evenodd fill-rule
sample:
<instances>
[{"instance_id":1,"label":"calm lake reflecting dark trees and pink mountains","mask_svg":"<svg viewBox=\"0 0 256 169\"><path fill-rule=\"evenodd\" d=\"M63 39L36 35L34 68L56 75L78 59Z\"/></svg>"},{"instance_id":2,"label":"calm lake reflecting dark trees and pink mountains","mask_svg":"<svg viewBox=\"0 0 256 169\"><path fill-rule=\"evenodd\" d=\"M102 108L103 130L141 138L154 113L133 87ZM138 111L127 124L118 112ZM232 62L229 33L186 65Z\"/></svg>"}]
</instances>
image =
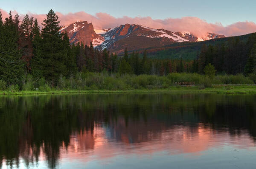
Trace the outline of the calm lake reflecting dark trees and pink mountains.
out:
<instances>
[{"instance_id":1,"label":"calm lake reflecting dark trees and pink mountains","mask_svg":"<svg viewBox=\"0 0 256 169\"><path fill-rule=\"evenodd\" d=\"M0 168L256 167L256 95L0 97Z\"/></svg>"}]
</instances>

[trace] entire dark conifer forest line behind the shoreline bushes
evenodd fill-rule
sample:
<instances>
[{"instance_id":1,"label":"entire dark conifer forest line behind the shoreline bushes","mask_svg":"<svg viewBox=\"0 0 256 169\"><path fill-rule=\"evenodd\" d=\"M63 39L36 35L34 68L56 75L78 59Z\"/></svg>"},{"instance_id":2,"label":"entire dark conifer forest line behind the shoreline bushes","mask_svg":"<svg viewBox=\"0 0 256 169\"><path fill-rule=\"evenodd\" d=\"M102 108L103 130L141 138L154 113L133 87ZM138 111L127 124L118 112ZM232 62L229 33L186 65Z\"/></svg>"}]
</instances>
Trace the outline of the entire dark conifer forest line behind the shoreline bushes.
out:
<instances>
[{"instance_id":1,"label":"entire dark conifer forest line behind the shoreline bushes","mask_svg":"<svg viewBox=\"0 0 256 169\"><path fill-rule=\"evenodd\" d=\"M77 72L116 74L148 74L164 76L169 73L205 73L213 65L217 73L245 75L256 71L256 35L247 42L230 38L222 45L203 45L195 60L151 59L127 49L118 57L107 49L100 51L83 42L70 45L67 32L61 33L58 15L50 10L42 23L25 15L9 13L3 21L0 12L0 80L7 85L21 85L30 74L33 79L45 78L55 86L60 76L74 76ZM215 73L215 71L213 71Z\"/></svg>"}]
</instances>

